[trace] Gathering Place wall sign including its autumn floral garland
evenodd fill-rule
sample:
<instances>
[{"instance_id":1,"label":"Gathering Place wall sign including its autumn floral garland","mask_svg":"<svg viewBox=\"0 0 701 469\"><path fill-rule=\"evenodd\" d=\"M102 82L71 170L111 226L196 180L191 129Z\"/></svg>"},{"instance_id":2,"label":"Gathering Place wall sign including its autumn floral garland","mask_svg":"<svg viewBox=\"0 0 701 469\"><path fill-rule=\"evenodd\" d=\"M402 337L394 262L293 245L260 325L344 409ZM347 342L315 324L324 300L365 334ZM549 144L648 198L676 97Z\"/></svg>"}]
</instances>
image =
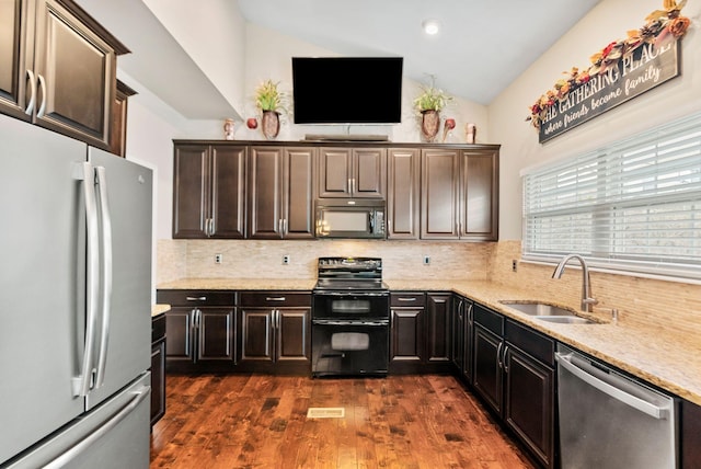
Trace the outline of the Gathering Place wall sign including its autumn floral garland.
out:
<instances>
[{"instance_id":1,"label":"Gathering Place wall sign including its autumn floral garland","mask_svg":"<svg viewBox=\"0 0 701 469\"><path fill-rule=\"evenodd\" d=\"M636 98L679 75L678 42L689 27L679 12L682 0L665 0L664 10L647 15L640 30L629 31L623 41L610 43L591 56L591 66L573 67L566 79L540 96L527 121L547 141Z\"/></svg>"}]
</instances>

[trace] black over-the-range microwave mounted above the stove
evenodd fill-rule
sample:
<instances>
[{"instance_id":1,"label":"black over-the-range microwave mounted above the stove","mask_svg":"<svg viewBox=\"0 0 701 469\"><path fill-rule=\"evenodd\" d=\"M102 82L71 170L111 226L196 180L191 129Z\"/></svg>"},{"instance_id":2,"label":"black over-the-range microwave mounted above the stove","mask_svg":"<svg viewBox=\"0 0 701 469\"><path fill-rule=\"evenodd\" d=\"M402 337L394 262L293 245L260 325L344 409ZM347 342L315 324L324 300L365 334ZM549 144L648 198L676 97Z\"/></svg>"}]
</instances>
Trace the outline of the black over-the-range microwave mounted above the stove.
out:
<instances>
[{"instance_id":1,"label":"black over-the-range microwave mounted above the stove","mask_svg":"<svg viewBox=\"0 0 701 469\"><path fill-rule=\"evenodd\" d=\"M317 238L384 239L386 210L379 199L317 199Z\"/></svg>"}]
</instances>

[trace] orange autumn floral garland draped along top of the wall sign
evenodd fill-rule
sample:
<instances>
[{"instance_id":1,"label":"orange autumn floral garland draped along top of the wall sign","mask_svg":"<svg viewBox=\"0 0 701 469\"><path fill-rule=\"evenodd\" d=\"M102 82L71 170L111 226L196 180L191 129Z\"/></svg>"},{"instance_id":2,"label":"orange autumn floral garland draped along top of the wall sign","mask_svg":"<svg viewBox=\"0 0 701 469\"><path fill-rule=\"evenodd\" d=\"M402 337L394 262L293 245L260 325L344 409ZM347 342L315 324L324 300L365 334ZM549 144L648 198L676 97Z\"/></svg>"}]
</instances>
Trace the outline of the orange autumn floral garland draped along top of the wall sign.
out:
<instances>
[{"instance_id":1,"label":"orange autumn floral garland draped along top of the wall sign","mask_svg":"<svg viewBox=\"0 0 701 469\"><path fill-rule=\"evenodd\" d=\"M683 36L690 24L688 18L679 14L685 4L687 4L687 0L681 0L679 3L676 0L664 0L664 10L655 10L650 13L643 27L629 31L625 39L614 41L594 54L590 57L591 66L589 68L579 71L577 67L572 67L572 70L563 71L567 77L558 80L554 89L548 90L530 106L530 115L526 121L530 121L533 127L540 128L548 110L558 101L565 99L570 92L589 81L593 76L604 73L611 66L616 66L621 58L630 56L633 50L645 43L658 44L668 34L671 34L676 39Z\"/></svg>"}]
</instances>

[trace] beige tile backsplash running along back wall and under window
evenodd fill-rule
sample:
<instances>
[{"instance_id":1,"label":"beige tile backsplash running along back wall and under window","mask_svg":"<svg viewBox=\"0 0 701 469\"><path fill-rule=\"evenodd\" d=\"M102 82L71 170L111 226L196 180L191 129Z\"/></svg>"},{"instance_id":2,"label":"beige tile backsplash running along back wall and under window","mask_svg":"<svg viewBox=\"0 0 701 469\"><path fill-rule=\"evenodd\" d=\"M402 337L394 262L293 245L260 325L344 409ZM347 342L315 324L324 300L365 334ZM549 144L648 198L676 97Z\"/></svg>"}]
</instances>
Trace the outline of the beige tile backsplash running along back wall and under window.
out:
<instances>
[{"instance_id":1,"label":"beige tile backsplash running along back wall and under window","mask_svg":"<svg viewBox=\"0 0 701 469\"><path fill-rule=\"evenodd\" d=\"M492 281L530 289L533 299L579 308L582 273L573 264L561 279L554 266L520 261L520 241L497 243L323 240L159 240L157 283L179 278L315 278L320 256L378 256L391 279ZM215 254L222 255L221 264ZM283 256L289 255L288 265ZM424 258L430 263L424 265ZM513 272L513 261L517 271ZM617 308L620 322L701 334L701 286L591 272L597 309Z\"/></svg>"}]
</instances>

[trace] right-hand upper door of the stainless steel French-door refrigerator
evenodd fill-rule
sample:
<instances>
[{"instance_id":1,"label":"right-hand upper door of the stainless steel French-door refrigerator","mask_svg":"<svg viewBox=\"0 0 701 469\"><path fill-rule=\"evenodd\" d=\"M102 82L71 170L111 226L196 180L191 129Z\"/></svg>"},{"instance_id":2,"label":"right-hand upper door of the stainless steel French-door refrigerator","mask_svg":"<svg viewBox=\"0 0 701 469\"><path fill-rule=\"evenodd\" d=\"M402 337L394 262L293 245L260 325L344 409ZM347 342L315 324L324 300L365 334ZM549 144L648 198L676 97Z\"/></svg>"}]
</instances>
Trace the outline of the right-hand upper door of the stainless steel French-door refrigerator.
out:
<instances>
[{"instance_id":1,"label":"right-hand upper door of the stainless steel French-door refrigerator","mask_svg":"<svg viewBox=\"0 0 701 469\"><path fill-rule=\"evenodd\" d=\"M101 219L108 215L112 239L111 254L101 254L102 263L112 259L112 268L106 266L112 282L108 336L97 341L106 353L102 364L95 357L97 382L88 394L92 409L151 366L152 171L95 148L88 160L104 178L96 191L106 188Z\"/></svg>"}]
</instances>

